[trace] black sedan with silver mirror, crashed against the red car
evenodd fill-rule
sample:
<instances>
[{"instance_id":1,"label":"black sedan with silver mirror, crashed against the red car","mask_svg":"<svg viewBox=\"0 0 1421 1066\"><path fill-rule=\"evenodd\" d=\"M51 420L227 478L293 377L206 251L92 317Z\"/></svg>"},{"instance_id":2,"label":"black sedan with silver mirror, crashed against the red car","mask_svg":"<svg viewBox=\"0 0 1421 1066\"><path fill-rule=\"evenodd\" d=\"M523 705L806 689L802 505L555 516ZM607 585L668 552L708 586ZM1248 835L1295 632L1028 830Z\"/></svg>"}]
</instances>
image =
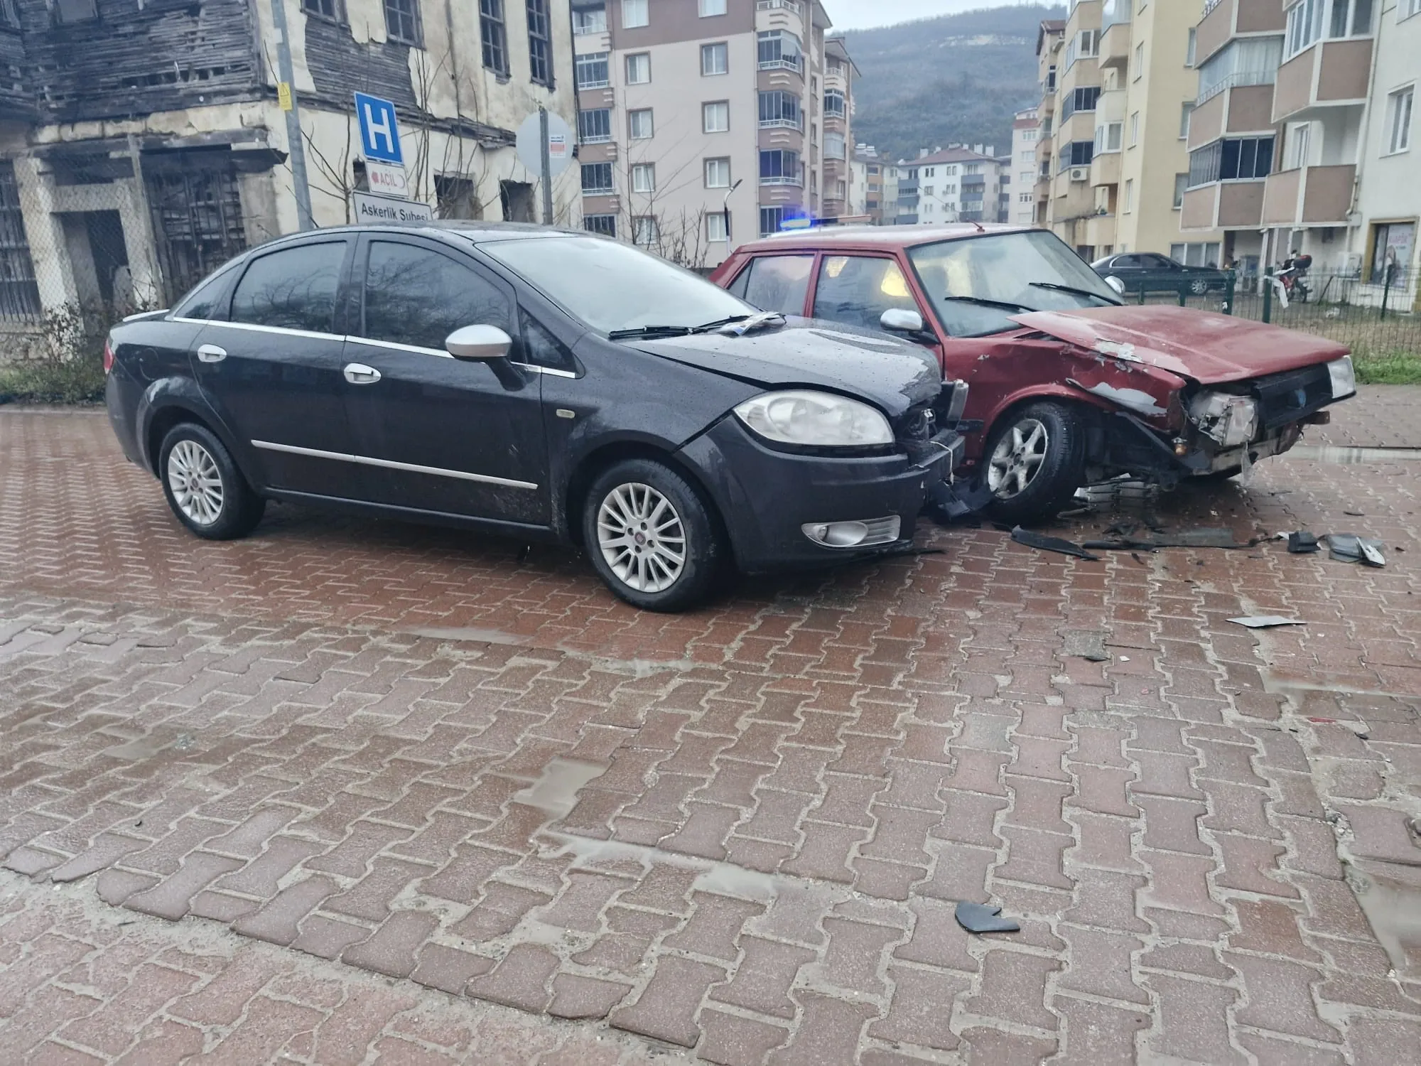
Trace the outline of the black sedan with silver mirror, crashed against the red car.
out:
<instances>
[{"instance_id":1,"label":"black sedan with silver mirror, crashed against the red car","mask_svg":"<svg viewBox=\"0 0 1421 1066\"><path fill-rule=\"evenodd\" d=\"M919 345L756 316L580 230L273 240L114 328L105 368L124 452L198 536L277 499L549 539L652 610L726 563L894 550L962 455Z\"/></svg>"}]
</instances>

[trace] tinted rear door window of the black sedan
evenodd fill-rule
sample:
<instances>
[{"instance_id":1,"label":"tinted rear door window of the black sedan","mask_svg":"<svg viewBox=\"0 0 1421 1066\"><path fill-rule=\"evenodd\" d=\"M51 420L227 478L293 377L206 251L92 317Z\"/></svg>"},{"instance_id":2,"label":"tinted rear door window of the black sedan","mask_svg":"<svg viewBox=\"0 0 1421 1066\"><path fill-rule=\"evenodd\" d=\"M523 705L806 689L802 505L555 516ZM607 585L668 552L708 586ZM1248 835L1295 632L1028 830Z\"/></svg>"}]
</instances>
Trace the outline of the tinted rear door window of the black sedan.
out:
<instances>
[{"instance_id":1,"label":"tinted rear door window of the black sedan","mask_svg":"<svg viewBox=\"0 0 1421 1066\"><path fill-rule=\"evenodd\" d=\"M232 321L335 333L345 242L298 244L252 260L232 294Z\"/></svg>"}]
</instances>

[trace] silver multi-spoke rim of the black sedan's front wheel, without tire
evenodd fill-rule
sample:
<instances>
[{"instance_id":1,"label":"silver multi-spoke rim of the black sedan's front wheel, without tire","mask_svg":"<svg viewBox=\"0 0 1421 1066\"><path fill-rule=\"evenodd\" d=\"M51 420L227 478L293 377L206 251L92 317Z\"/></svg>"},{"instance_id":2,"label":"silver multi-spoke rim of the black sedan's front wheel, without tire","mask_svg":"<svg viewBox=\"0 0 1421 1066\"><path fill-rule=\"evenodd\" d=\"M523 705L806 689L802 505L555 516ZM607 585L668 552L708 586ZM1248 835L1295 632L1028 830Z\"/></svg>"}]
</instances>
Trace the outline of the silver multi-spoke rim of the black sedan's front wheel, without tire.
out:
<instances>
[{"instance_id":1,"label":"silver multi-spoke rim of the black sedan's front wheel, without tire","mask_svg":"<svg viewBox=\"0 0 1421 1066\"><path fill-rule=\"evenodd\" d=\"M659 593L686 567L686 530L675 506L641 482L618 485L597 509L597 547L627 587Z\"/></svg>"}]
</instances>

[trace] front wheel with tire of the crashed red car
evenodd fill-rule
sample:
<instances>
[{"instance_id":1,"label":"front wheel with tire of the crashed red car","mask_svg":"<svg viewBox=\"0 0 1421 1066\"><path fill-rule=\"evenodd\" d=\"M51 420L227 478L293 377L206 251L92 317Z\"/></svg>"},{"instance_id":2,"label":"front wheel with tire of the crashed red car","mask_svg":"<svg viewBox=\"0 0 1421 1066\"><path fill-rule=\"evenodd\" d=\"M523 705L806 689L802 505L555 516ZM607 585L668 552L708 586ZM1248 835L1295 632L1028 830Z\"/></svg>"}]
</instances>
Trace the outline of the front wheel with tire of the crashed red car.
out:
<instances>
[{"instance_id":1,"label":"front wheel with tire of the crashed red car","mask_svg":"<svg viewBox=\"0 0 1421 1066\"><path fill-rule=\"evenodd\" d=\"M1034 442L1037 429L1046 438L1040 443ZM1020 432L1015 446L1013 431ZM1005 459L998 455L1003 442ZM1033 453L1042 456L1034 465ZM1053 519L1080 488L1084 466L1086 426L1076 408L1040 401L1009 411L993 424L982 453L982 482L993 496L988 509L1002 522Z\"/></svg>"}]
</instances>

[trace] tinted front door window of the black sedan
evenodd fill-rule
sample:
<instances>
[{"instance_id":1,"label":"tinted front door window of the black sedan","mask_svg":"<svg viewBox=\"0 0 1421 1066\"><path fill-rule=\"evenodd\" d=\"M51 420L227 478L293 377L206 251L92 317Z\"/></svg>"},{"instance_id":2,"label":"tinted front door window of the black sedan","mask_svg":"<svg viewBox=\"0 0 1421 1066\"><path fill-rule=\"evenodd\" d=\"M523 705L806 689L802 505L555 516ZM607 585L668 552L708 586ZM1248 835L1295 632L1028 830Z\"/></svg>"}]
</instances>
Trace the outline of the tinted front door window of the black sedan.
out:
<instances>
[{"instance_id":1,"label":"tinted front door window of the black sedan","mask_svg":"<svg viewBox=\"0 0 1421 1066\"><path fill-rule=\"evenodd\" d=\"M369 243L364 314L362 337L439 351L463 325L516 333L502 289L449 256L392 240Z\"/></svg>"}]
</instances>

